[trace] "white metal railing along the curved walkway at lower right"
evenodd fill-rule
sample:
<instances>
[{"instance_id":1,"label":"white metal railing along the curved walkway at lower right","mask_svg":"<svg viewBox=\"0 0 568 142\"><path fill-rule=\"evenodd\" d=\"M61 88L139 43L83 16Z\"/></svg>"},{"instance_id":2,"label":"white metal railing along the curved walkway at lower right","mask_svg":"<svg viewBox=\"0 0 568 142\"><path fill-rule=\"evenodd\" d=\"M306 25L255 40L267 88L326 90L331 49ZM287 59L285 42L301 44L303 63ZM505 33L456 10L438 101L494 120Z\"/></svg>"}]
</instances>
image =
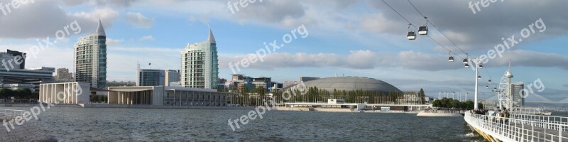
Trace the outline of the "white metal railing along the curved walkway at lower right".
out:
<instances>
[{"instance_id":1,"label":"white metal railing along the curved walkway at lower right","mask_svg":"<svg viewBox=\"0 0 568 142\"><path fill-rule=\"evenodd\" d=\"M500 141L568 141L567 124L537 121L530 117L500 118L470 112L466 112L464 119L478 131Z\"/></svg>"}]
</instances>

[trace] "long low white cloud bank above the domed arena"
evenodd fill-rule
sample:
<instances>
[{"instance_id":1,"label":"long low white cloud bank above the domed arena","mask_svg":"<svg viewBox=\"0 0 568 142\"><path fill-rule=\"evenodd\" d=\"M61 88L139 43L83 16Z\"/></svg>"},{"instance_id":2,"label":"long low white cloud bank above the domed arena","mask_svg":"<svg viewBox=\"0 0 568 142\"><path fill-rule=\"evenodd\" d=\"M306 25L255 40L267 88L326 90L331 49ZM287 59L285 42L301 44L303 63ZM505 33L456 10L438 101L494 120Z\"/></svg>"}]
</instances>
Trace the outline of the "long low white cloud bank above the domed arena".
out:
<instances>
[{"instance_id":1,"label":"long low white cloud bank above the domed arena","mask_svg":"<svg viewBox=\"0 0 568 142\"><path fill-rule=\"evenodd\" d=\"M219 56L219 67L229 67L253 54ZM537 53L527 50L513 50L506 56L515 60L515 65L530 67L560 67L568 70L568 57L554 53ZM525 58L525 59L521 59ZM490 65L506 66L508 60L499 58ZM546 63L545 63L546 62ZM549 63L550 62L550 63ZM242 66L240 66L242 67ZM403 67L411 70L455 70L463 68L461 62L447 62L447 55L420 53L413 50L400 51L398 54L376 53L371 50L351 50L349 55L333 53L272 53L263 58L263 62L251 63L249 68L273 70L278 67L339 67L347 69L373 69L376 67Z\"/></svg>"}]
</instances>

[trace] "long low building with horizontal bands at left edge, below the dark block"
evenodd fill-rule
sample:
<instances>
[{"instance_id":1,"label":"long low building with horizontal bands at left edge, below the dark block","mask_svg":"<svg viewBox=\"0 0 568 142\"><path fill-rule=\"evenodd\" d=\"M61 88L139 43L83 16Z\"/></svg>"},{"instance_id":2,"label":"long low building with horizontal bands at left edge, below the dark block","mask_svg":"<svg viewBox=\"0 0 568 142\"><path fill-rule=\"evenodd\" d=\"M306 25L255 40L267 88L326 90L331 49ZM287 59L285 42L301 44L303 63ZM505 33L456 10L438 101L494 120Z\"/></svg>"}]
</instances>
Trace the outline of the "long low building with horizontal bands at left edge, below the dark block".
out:
<instances>
[{"instance_id":1,"label":"long low building with horizontal bands at left edge, below the dark block","mask_svg":"<svg viewBox=\"0 0 568 142\"><path fill-rule=\"evenodd\" d=\"M0 84L33 84L34 89L39 89L40 83L55 82L53 79L53 67L35 67L28 69L6 70L0 67Z\"/></svg>"}]
</instances>

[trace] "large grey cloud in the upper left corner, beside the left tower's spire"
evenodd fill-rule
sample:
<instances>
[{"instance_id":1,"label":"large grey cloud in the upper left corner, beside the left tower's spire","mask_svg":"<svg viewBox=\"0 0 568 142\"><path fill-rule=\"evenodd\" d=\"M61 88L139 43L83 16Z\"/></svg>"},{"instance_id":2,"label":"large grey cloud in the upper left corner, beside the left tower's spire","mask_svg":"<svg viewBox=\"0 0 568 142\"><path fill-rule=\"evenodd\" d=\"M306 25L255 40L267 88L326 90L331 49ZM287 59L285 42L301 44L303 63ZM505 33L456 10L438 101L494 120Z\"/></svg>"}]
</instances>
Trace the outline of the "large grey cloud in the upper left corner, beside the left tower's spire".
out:
<instances>
[{"instance_id":1,"label":"large grey cloud in the upper left corner, beside the left tower's spire","mask_svg":"<svg viewBox=\"0 0 568 142\"><path fill-rule=\"evenodd\" d=\"M82 28L82 33L92 33L98 24L97 13L102 18L104 28L112 27L112 22L118 12L104 8L93 9L89 12L67 13L51 1L35 1L34 4L26 4L6 16L0 16L0 38L45 38L55 37L55 32L62 30L72 21L77 21Z\"/></svg>"}]
</instances>

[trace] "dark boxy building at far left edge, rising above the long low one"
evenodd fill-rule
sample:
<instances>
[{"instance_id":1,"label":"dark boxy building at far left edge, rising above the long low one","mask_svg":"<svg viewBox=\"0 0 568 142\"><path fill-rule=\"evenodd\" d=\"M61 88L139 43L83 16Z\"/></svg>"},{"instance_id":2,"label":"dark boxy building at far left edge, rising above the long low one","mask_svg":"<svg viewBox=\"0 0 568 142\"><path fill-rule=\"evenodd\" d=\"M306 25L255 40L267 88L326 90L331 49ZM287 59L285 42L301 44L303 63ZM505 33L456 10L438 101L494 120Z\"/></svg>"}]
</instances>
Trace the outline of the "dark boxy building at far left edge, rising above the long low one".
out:
<instances>
[{"instance_id":1,"label":"dark boxy building at far left edge, rising above the long low one","mask_svg":"<svg viewBox=\"0 0 568 142\"><path fill-rule=\"evenodd\" d=\"M0 67L13 69L26 69L26 53L16 50L7 50L6 53L0 53Z\"/></svg>"}]
</instances>

